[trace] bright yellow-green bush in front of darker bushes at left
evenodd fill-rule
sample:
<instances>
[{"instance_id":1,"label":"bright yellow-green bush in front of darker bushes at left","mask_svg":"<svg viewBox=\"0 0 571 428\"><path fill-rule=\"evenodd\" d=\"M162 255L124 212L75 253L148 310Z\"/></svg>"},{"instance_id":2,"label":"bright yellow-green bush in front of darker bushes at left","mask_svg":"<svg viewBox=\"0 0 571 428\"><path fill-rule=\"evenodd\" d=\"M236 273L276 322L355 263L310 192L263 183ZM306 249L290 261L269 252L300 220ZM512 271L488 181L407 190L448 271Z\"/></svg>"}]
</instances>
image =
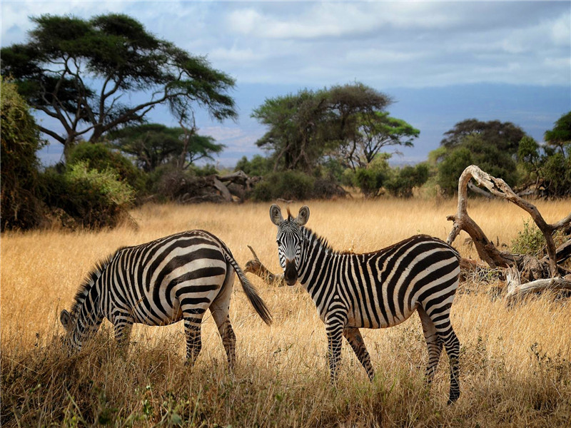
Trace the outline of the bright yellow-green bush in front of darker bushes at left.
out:
<instances>
[{"instance_id":1,"label":"bright yellow-green bush in front of darker bushes at left","mask_svg":"<svg viewBox=\"0 0 571 428\"><path fill-rule=\"evenodd\" d=\"M41 178L46 204L64 210L84 228L117 225L135 197L116 171L89 169L83 161L66 168L63 174L49 168Z\"/></svg>"}]
</instances>

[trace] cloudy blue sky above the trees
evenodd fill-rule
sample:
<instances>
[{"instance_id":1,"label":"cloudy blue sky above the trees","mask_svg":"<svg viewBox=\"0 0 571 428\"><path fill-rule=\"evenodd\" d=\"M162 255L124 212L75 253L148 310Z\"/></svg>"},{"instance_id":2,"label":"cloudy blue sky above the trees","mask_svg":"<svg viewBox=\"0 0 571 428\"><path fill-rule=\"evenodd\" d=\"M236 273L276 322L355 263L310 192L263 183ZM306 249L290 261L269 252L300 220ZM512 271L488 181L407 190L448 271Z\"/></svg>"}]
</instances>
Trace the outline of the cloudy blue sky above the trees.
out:
<instances>
[{"instance_id":1,"label":"cloudy blue sky above the trees","mask_svg":"<svg viewBox=\"0 0 571 428\"><path fill-rule=\"evenodd\" d=\"M360 81L395 99L420 129L398 161L423 161L458 121L511 121L542 140L571 111L570 1L6 1L1 46L26 41L29 16L118 12L236 78L240 117L200 133L233 165L262 153L250 118L266 98ZM176 126L165 111L151 120ZM44 162L59 160L52 145Z\"/></svg>"}]
</instances>

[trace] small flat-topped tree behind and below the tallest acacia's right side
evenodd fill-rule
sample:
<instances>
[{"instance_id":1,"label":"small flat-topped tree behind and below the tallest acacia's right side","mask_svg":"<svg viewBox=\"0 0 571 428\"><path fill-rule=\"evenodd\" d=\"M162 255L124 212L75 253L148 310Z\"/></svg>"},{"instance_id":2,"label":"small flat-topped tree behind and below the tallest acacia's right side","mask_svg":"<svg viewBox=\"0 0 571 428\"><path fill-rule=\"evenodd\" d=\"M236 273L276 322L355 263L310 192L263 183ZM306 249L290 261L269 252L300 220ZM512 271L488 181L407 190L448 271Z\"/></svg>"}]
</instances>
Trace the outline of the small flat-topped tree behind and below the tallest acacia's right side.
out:
<instances>
[{"instance_id":1,"label":"small flat-topped tree behind and below the tallest acacia's right side","mask_svg":"<svg viewBox=\"0 0 571 428\"><path fill-rule=\"evenodd\" d=\"M113 146L127 153L146 172L164 163L175 162L180 168L200 159L213 159L225 147L211 136L200 136L184 128L168 128L160 123L127 126L110 133Z\"/></svg>"}]
</instances>

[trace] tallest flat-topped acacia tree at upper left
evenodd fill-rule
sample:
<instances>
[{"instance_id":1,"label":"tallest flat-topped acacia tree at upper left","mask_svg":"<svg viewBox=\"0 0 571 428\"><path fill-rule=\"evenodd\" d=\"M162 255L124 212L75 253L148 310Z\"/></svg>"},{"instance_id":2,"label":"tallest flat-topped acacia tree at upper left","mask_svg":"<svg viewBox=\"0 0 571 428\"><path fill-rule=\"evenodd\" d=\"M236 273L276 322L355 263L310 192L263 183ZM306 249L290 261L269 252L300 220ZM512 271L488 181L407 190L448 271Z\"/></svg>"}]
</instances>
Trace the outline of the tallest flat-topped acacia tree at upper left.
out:
<instances>
[{"instance_id":1,"label":"tallest flat-topped acacia tree at upper left","mask_svg":"<svg viewBox=\"0 0 571 428\"><path fill-rule=\"evenodd\" d=\"M31 107L63 126L62 134L48 125L39 129L64 144L64 152L87 135L94 142L118 126L143 123L160 104L177 118L190 116L193 106L217 120L237 116L228 96L233 78L129 16L42 15L32 21L36 28L25 44L1 49L1 74L15 79ZM146 101L129 102L131 93L144 93Z\"/></svg>"}]
</instances>

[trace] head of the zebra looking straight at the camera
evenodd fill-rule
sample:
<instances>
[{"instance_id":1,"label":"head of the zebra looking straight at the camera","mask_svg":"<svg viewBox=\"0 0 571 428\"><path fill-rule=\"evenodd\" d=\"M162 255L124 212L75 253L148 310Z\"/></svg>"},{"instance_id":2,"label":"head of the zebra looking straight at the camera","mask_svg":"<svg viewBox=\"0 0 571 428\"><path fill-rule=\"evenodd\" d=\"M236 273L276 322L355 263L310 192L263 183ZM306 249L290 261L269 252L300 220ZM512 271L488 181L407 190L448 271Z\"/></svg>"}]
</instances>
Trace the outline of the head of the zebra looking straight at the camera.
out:
<instances>
[{"instance_id":1,"label":"head of the zebra looking straight at the camera","mask_svg":"<svg viewBox=\"0 0 571 428\"><path fill-rule=\"evenodd\" d=\"M276 243L278 243L278 256L283 268L283 278L288 285L294 285L298 280L298 270L303 253L301 226L308 223L309 208L303 205L296 218L293 218L288 210L288 218L284 220L280 207L273 204L270 207L270 218L272 223L278 226Z\"/></svg>"}]
</instances>

